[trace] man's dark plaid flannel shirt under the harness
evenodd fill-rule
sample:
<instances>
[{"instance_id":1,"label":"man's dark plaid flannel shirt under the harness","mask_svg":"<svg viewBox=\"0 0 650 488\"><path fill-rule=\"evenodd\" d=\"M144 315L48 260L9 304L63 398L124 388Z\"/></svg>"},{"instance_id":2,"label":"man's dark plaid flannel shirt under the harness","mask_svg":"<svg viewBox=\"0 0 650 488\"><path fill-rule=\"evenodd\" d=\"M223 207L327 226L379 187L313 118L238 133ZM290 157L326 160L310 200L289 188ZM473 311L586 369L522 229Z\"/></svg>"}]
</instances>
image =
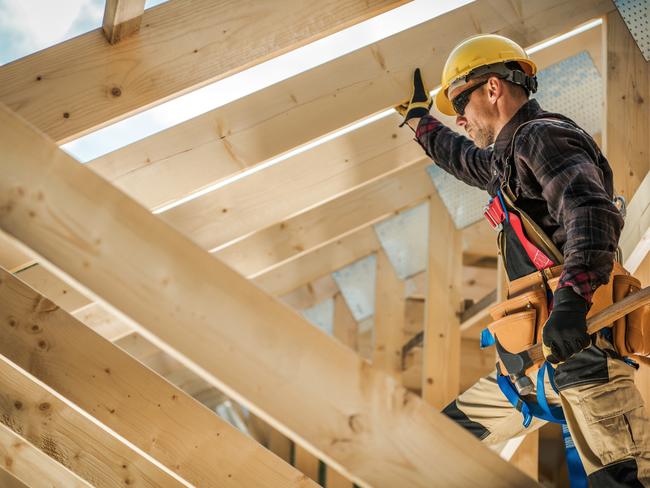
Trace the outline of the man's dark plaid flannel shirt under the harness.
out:
<instances>
[{"instance_id":1,"label":"man's dark plaid flannel shirt under the harness","mask_svg":"<svg viewBox=\"0 0 650 488\"><path fill-rule=\"evenodd\" d=\"M609 281L623 219L612 203L612 170L593 139L570 119L523 105L493 146L481 149L434 117L420 119L416 140L433 161L459 180L496 194L516 129L510 187L526 212L564 255L559 287L588 302Z\"/></svg>"}]
</instances>

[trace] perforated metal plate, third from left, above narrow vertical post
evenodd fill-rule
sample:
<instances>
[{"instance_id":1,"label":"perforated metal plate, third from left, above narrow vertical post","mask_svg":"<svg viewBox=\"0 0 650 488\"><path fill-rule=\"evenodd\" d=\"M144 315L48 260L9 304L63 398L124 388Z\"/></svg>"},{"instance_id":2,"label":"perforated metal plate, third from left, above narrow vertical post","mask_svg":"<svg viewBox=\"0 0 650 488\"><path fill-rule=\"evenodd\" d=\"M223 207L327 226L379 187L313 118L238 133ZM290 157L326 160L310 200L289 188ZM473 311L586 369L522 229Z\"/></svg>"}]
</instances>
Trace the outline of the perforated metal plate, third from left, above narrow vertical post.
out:
<instances>
[{"instance_id":1,"label":"perforated metal plate, third from left, above narrow vertical post","mask_svg":"<svg viewBox=\"0 0 650 488\"><path fill-rule=\"evenodd\" d=\"M418 205L375 225L375 232L400 279L427 266L429 205Z\"/></svg>"}]
</instances>

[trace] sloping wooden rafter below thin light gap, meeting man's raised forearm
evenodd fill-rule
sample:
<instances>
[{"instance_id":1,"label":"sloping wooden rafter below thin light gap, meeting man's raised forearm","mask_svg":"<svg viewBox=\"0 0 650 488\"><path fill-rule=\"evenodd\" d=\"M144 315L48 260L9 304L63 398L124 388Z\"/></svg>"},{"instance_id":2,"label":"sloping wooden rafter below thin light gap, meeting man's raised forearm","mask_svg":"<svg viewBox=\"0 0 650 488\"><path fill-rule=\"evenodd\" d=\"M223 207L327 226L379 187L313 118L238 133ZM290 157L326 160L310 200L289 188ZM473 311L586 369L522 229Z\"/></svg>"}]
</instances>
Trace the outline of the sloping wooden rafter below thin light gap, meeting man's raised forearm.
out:
<instances>
[{"instance_id":1,"label":"sloping wooden rafter below thin light gap, meeting man's raised forearm","mask_svg":"<svg viewBox=\"0 0 650 488\"><path fill-rule=\"evenodd\" d=\"M422 159L395 114L173 208L161 217L215 249Z\"/></svg>"}]
</instances>

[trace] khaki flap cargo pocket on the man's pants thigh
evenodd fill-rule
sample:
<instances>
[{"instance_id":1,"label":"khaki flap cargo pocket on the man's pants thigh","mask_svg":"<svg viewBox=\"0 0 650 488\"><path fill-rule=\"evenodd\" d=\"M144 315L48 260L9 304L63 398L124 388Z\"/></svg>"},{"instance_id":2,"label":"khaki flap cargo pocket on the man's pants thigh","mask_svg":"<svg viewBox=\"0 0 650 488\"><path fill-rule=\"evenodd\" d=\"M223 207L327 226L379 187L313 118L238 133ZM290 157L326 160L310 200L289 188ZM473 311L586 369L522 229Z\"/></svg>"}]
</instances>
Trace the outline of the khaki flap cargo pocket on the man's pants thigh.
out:
<instances>
[{"instance_id":1,"label":"khaki flap cargo pocket on the man's pants thigh","mask_svg":"<svg viewBox=\"0 0 650 488\"><path fill-rule=\"evenodd\" d=\"M603 465L635 457L648 446L650 427L634 382L598 385L579 401L585 439Z\"/></svg>"}]
</instances>

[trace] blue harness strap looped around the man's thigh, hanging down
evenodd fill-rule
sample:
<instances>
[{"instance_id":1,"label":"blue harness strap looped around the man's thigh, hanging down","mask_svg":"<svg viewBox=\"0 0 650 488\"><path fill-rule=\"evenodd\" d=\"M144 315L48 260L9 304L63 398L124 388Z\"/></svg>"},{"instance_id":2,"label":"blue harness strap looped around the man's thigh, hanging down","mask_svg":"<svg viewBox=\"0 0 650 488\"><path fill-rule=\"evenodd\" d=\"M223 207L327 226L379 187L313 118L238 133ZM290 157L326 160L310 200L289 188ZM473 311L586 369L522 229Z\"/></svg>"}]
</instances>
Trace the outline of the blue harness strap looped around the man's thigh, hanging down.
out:
<instances>
[{"instance_id":1,"label":"blue harness strap looped around the man's thigh, hanging down","mask_svg":"<svg viewBox=\"0 0 650 488\"><path fill-rule=\"evenodd\" d=\"M587 482L587 474L585 473L582 461L580 460L578 450L571 438L571 433L566 424L566 418L564 417L562 407L552 407L548 404L548 400L546 399L544 384L546 374L548 374L551 387L555 393L558 393L554 379L555 370L548 364L548 362L544 361L544 364L542 364L542 367L537 372L537 403L529 403L521 398L515 389L515 385L510 381L508 376L497 373L497 384L510 404L523 415L524 427L528 428L528 426L530 426L533 417L560 424L562 426L562 438L564 439L564 450L571 488L587 488L589 486Z\"/></svg>"}]
</instances>

